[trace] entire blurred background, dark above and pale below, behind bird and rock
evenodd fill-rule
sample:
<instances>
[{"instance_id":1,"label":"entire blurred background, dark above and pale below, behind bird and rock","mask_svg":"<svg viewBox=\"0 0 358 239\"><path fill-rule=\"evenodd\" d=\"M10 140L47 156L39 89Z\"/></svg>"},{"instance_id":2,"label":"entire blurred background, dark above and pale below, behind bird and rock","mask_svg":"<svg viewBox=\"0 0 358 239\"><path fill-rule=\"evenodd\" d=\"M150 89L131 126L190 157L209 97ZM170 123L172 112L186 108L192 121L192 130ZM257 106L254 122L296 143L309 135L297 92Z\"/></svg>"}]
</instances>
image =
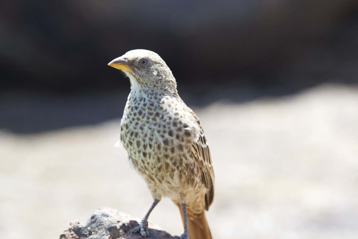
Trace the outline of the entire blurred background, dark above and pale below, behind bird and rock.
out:
<instances>
[{"instance_id":1,"label":"entire blurred background, dark above and pale below, behind bird and rock","mask_svg":"<svg viewBox=\"0 0 358 239\"><path fill-rule=\"evenodd\" d=\"M144 216L113 147L130 84L107 66L137 48L203 123L214 238L357 238L355 0L2 1L0 238L59 238L105 206ZM182 233L170 200L149 221Z\"/></svg>"}]
</instances>

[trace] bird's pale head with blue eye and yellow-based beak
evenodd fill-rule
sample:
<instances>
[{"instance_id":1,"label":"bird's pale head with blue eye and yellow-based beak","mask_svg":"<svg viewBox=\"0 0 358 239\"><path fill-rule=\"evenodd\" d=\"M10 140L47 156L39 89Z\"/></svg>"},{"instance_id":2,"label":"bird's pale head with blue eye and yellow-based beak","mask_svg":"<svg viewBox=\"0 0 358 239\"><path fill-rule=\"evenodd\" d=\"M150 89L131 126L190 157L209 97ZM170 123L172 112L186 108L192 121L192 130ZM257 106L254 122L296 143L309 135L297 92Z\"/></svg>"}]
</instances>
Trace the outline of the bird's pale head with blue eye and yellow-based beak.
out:
<instances>
[{"instance_id":1,"label":"bird's pale head with blue eye and yellow-based beak","mask_svg":"<svg viewBox=\"0 0 358 239\"><path fill-rule=\"evenodd\" d=\"M108 66L122 70L131 81L131 86L136 87L165 87L176 91L176 82L169 67L155 52L136 49L125 53L110 63Z\"/></svg>"}]
</instances>

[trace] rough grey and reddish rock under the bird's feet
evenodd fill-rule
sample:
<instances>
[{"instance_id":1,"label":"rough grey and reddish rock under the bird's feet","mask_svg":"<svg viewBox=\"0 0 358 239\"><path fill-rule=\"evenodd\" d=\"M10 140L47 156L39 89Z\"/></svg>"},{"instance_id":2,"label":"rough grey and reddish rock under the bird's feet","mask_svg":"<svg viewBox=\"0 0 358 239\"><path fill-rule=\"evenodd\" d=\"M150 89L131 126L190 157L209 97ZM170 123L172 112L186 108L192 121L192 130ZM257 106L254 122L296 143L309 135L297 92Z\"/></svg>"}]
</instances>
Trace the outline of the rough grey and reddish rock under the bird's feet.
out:
<instances>
[{"instance_id":1,"label":"rough grey and reddish rock under the bird's feet","mask_svg":"<svg viewBox=\"0 0 358 239\"><path fill-rule=\"evenodd\" d=\"M142 239L139 233L130 234L130 229L138 225L135 218L117 210L104 207L96 210L87 221L70 223L60 239ZM159 226L149 223L148 239L178 239Z\"/></svg>"}]
</instances>

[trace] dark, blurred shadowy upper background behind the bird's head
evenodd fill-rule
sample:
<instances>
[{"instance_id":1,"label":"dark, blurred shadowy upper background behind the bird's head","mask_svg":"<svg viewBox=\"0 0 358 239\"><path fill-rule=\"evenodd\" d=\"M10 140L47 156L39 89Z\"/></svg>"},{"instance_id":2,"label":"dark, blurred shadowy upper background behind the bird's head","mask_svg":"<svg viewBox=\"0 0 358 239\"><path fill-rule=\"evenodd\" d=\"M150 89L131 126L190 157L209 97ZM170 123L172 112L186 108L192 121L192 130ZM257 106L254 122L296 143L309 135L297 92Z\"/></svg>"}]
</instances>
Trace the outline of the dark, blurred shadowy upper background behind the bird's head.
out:
<instances>
[{"instance_id":1,"label":"dark, blurred shadowy upper background behind the bird's head","mask_svg":"<svg viewBox=\"0 0 358 239\"><path fill-rule=\"evenodd\" d=\"M358 82L358 2L0 3L0 128L32 133L120 117L129 81L107 66L157 52L188 104Z\"/></svg>"}]
</instances>

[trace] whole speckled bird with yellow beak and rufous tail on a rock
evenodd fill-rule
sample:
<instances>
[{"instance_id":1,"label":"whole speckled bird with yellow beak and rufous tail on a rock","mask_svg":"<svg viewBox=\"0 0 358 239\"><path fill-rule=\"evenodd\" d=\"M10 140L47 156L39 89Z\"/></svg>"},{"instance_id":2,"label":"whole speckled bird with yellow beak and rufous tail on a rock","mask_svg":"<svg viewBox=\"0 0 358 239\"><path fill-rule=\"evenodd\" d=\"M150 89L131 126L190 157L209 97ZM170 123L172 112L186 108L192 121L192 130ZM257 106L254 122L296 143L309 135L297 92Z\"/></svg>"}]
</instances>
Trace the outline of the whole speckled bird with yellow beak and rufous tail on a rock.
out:
<instances>
[{"instance_id":1,"label":"whole speckled bird with yellow beak and rufous tail on a rock","mask_svg":"<svg viewBox=\"0 0 358 239\"><path fill-rule=\"evenodd\" d=\"M214 198L209 145L198 116L180 98L173 73L157 53L145 49L128 51L108 66L130 80L120 141L154 200L131 233L149 236L149 214L168 197L182 217L180 239L211 239L205 218Z\"/></svg>"}]
</instances>

